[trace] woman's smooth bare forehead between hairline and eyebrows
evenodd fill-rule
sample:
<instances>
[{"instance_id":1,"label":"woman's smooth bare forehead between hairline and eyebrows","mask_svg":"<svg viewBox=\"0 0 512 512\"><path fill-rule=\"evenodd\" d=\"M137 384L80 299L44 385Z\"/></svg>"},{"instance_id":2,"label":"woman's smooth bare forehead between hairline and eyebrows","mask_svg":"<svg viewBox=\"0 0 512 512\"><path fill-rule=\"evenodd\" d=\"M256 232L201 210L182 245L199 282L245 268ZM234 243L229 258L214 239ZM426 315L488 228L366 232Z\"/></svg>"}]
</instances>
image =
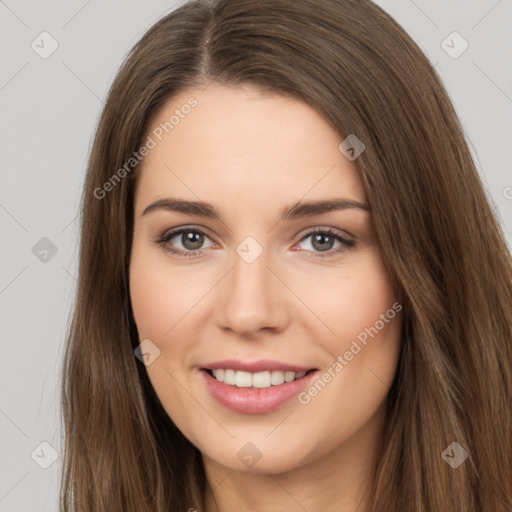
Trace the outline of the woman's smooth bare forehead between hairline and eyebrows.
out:
<instances>
[{"instance_id":1,"label":"woman's smooth bare forehead between hairline and eyebrows","mask_svg":"<svg viewBox=\"0 0 512 512\"><path fill-rule=\"evenodd\" d=\"M338 149L341 135L291 97L190 88L160 108L146 137L154 147L139 164L138 211L166 195L253 208L304 196L365 201L355 164Z\"/></svg>"}]
</instances>

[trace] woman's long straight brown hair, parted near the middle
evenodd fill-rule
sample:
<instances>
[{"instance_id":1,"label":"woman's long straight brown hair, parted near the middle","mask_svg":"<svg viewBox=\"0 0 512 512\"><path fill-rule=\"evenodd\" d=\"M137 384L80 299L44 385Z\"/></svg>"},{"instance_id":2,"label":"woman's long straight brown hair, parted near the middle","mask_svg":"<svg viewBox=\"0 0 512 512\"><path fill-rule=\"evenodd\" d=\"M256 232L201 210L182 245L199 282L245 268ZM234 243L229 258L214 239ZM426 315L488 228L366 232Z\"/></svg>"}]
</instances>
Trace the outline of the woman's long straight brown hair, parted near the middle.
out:
<instances>
[{"instance_id":1,"label":"woman's long straight brown hair, parted near the middle","mask_svg":"<svg viewBox=\"0 0 512 512\"><path fill-rule=\"evenodd\" d=\"M369 0L194 1L158 21L128 55L83 191L63 364L60 510L204 507L201 454L133 353L140 340L128 267L138 168L112 177L165 101L212 82L292 95L366 146L355 164L404 306L369 510L510 512L510 252L439 77ZM468 454L456 469L442 457L452 442Z\"/></svg>"}]
</instances>

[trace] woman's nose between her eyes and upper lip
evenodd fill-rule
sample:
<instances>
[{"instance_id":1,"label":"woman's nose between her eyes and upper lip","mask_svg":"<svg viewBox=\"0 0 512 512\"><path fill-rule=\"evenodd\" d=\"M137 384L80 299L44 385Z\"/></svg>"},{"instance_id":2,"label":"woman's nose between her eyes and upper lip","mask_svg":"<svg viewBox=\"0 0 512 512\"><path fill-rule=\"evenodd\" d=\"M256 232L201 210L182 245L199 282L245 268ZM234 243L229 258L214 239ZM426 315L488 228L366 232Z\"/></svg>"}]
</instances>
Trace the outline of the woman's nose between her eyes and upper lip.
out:
<instances>
[{"instance_id":1,"label":"woman's nose between her eyes and upper lip","mask_svg":"<svg viewBox=\"0 0 512 512\"><path fill-rule=\"evenodd\" d=\"M231 271L219 290L216 316L221 329L250 337L264 329L279 332L286 327L286 288L269 259L264 250L249 263L234 251Z\"/></svg>"}]
</instances>

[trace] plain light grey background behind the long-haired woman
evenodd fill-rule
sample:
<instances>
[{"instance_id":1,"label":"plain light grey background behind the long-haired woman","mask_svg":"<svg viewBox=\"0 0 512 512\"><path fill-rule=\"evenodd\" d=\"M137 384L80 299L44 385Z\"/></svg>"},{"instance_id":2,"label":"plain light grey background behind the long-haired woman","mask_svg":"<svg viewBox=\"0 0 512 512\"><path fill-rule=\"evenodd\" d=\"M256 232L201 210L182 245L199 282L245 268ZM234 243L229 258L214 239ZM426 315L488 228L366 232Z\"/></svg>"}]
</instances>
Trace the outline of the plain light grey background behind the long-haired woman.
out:
<instances>
[{"instance_id":1,"label":"plain light grey background behind the long-haired woman","mask_svg":"<svg viewBox=\"0 0 512 512\"><path fill-rule=\"evenodd\" d=\"M377 3L436 65L512 247L512 0ZM0 511L57 510L62 458L43 469L52 450L40 443L60 450L59 370L86 160L123 57L176 5L0 0ZM59 45L47 59L31 47L50 47L43 31ZM442 47L453 31L469 43L458 58ZM444 45L462 48L453 38ZM55 254L43 252L43 237Z\"/></svg>"}]
</instances>

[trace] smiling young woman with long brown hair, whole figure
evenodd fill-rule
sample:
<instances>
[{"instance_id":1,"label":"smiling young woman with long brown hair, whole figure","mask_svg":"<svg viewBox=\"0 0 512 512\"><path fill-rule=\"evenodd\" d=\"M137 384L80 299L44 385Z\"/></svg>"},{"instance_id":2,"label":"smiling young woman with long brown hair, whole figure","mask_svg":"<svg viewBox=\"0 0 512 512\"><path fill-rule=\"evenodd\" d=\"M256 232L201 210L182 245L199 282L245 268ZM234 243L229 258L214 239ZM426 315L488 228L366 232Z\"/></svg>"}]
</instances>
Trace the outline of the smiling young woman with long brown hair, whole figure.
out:
<instances>
[{"instance_id":1,"label":"smiling young woman with long brown hair, whole figure","mask_svg":"<svg viewBox=\"0 0 512 512\"><path fill-rule=\"evenodd\" d=\"M511 269L379 7L180 7L91 153L61 510L512 510Z\"/></svg>"}]
</instances>

